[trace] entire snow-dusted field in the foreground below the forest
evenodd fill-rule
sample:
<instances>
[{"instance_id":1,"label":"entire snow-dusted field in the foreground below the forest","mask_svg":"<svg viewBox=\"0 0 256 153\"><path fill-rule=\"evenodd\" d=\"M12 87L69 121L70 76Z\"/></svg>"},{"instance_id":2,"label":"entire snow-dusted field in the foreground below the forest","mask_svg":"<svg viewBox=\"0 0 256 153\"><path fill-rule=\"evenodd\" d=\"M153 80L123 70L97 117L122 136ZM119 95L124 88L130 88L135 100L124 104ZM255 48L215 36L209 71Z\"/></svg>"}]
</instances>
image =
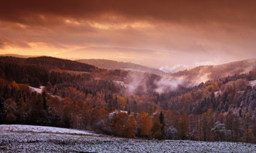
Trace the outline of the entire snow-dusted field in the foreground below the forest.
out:
<instances>
[{"instance_id":1,"label":"entire snow-dusted field in the foreground below the forest","mask_svg":"<svg viewBox=\"0 0 256 153\"><path fill-rule=\"evenodd\" d=\"M0 127L0 152L256 152L256 145L246 143L147 141L113 138L88 131L79 133L64 128Z\"/></svg>"}]
</instances>

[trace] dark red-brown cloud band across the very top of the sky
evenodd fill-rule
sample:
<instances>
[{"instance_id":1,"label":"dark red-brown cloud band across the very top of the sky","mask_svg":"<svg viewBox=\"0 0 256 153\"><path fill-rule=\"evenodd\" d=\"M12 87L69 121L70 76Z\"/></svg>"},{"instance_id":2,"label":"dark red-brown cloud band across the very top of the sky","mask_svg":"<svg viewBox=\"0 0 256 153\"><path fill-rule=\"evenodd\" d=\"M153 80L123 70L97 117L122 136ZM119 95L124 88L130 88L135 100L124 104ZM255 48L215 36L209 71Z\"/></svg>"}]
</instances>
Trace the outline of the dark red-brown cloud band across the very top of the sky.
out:
<instances>
[{"instance_id":1,"label":"dark red-brown cloud band across the very top of the sky","mask_svg":"<svg viewBox=\"0 0 256 153\"><path fill-rule=\"evenodd\" d=\"M100 15L112 13L127 19L255 26L255 10L256 2L249 0L9 0L1 2L0 19L43 25L47 21L42 15L97 20Z\"/></svg>"}]
</instances>

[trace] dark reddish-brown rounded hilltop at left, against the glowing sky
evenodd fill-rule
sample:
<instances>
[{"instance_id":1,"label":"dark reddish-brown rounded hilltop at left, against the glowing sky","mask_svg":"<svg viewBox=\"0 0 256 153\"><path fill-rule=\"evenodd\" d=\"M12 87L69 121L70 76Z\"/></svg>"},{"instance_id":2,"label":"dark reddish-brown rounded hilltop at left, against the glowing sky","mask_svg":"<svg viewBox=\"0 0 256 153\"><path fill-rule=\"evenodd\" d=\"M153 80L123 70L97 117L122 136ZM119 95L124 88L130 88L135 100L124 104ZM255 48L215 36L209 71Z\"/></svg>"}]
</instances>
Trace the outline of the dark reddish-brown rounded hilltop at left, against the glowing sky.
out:
<instances>
[{"instance_id":1,"label":"dark reddish-brown rounded hilltop at left, against the glowing sky","mask_svg":"<svg viewBox=\"0 0 256 153\"><path fill-rule=\"evenodd\" d=\"M73 70L90 72L97 69L95 66L79 63L68 59L58 59L50 56L17 58L12 56L0 56L0 62L29 64L33 66L42 66L49 69Z\"/></svg>"}]
</instances>

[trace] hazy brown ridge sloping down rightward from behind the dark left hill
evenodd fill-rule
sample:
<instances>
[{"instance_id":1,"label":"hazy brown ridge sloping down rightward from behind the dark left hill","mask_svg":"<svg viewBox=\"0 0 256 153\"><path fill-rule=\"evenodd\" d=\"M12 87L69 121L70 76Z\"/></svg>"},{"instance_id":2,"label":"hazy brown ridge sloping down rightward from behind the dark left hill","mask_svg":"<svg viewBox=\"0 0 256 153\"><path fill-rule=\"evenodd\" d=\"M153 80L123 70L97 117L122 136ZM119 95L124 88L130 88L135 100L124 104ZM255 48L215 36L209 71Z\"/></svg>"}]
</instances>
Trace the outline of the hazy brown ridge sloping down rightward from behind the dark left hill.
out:
<instances>
[{"instance_id":1,"label":"hazy brown ridge sloping down rightward from behind the dark left hill","mask_svg":"<svg viewBox=\"0 0 256 153\"><path fill-rule=\"evenodd\" d=\"M147 66L141 66L135 63L127 63L127 62L117 62L115 60L109 59L78 59L76 60L80 63L87 63L93 66L97 66L103 69L111 69L111 70L131 70L131 71L139 71L144 73L154 73L154 74L164 74L163 71L157 70L154 68L150 68Z\"/></svg>"}]
</instances>

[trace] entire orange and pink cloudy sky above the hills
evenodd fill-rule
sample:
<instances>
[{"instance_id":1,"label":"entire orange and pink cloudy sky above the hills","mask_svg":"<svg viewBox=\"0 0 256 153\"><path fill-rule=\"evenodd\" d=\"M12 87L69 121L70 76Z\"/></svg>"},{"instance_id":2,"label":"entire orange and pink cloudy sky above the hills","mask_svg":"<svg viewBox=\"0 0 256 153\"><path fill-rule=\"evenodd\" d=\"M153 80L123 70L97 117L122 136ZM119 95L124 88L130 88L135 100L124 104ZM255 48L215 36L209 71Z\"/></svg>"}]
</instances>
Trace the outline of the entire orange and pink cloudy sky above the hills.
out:
<instances>
[{"instance_id":1,"label":"entire orange and pink cloudy sky above the hills","mask_svg":"<svg viewBox=\"0 0 256 153\"><path fill-rule=\"evenodd\" d=\"M114 59L145 66L220 64L256 57L256 1L8 0L0 53Z\"/></svg>"}]
</instances>

